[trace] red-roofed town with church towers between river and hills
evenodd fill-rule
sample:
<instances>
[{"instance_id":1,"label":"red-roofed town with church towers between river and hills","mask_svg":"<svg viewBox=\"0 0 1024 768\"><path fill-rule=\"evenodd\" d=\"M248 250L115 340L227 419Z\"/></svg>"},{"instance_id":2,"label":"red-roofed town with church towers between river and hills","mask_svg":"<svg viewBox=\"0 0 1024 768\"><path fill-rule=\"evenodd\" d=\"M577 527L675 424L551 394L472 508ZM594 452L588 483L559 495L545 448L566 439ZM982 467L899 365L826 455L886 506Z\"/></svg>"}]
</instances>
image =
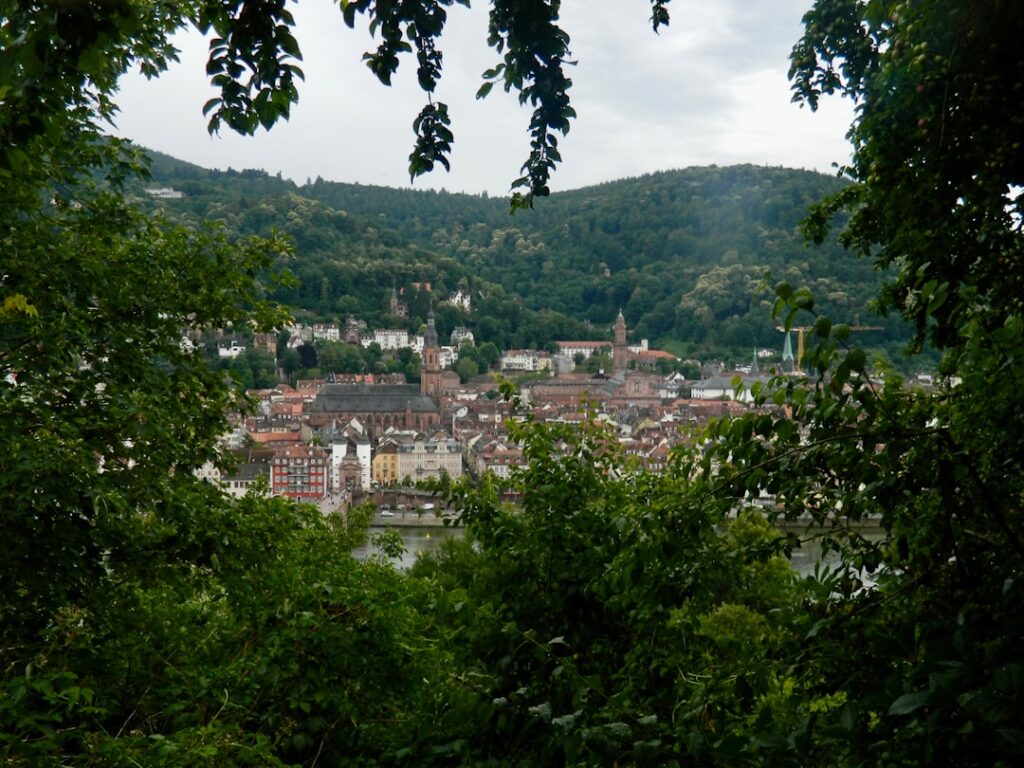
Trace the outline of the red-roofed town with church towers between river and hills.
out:
<instances>
[{"instance_id":1,"label":"red-roofed town with church towers between river and hills","mask_svg":"<svg viewBox=\"0 0 1024 768\"><path fill-rule=\"evenodd\" d=\"M462 292L449 300L469 308L470 297ZM392 314L403 316L402 309L393 293ZM656 472L670 451L696 435L708 420L749 408L754 384L764 386L771 378L761 366L780 362L780 370L792 372L799 362L786 335L781 355L763 348L752 351L750 365L733 370L719 361L688 360L681 367L675 355L649 348L645 339L630 343L622 312L608 329L610 338L556 341L554 352L505 350L497 372L465 381L453 369L460 349L473 344L473 333L458 327L450 344L442 345L432 310L422 334L368 331L353 317L343 326L297 325L286 333L287 349L376 345L385 355L412 350L420 360L418 384L401 373L329 373L297 379L294 385L251 388L254 411L234 415L234 429L226 437L236 465L222 471L208 463L199 470L231 496L255 488L315 504L325 512L368 499L383 509L390 506L384 500L408 499L398 495L424 481L465 473L508 478L524 458L506 427L513 414L512 403L499 395L503 378L517 383L521 403L535 420L598 419L613 430L626 456ZM254 334L248 343L267 355L279 349L275 334ZM246 340L224 332L209 344L220 358L247 349ZM680 370L700 375L687 378ZM279 373L284 378L284 371ZM420 512L434 508L426 495L417 506Z\"/></svg>"}]
</instances>

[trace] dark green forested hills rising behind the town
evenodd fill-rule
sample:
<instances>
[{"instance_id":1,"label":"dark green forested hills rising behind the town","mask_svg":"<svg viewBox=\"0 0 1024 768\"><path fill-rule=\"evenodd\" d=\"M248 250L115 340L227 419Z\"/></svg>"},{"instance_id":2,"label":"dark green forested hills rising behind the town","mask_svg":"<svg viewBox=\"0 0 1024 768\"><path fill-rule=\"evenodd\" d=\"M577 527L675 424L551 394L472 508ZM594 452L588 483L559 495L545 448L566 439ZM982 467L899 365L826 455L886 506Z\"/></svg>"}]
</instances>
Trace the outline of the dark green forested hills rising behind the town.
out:
<instances>
[{"instance_id":1,"label":"dark green forested hills rising behind the town","mask_svg":"<svg viewBox=\"0 0 1024 768\"><path fill-rule=\"evenodd\" d=\"M383 322L392 286L430 282L437 299L462 284L482 289L492 305L439 321L470 323L500 346L602 333L622 308L637 338L696 353L750 349L778 341L772 296L756 295L770 270L772 282L809 287L837 321L886 325L867 344L895 348L902 335L868 308L881 282L868 261L835 242L805 245L799 223L808 206L841 184L808 171L667 171L556 194L514 215L500 198L322 179L298 186L159 154L154 179L185 193L169 209L223 218L242 232L289 231L302 287L282 298L324 316ZM419 315L430 297L413 298Z\"/></svg>"}]
</instances>

